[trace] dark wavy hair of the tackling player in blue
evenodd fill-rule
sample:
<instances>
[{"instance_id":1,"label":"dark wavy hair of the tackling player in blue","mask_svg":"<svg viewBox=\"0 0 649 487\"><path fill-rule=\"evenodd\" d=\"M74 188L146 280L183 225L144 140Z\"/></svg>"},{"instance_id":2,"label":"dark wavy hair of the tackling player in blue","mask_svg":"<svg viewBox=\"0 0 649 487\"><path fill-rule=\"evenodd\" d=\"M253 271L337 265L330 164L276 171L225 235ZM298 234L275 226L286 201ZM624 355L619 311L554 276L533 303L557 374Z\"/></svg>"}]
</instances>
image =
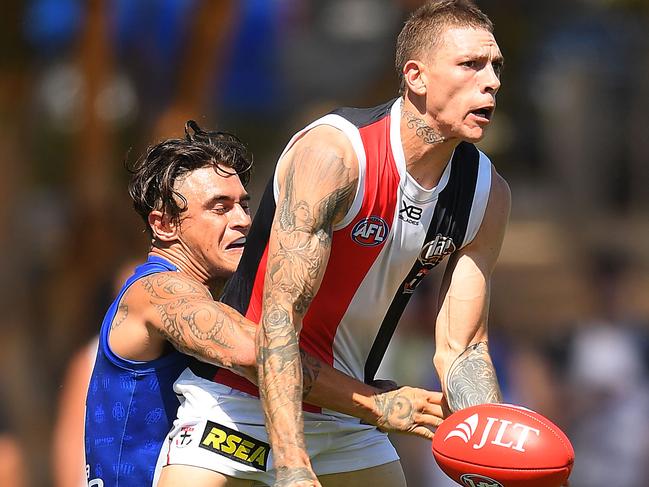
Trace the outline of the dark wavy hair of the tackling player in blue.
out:
<instances>
[{"instance_id":1,"label":"dark wavy hair of the tackling player in blue","mask_svg":"<svg viewBox=\"0 0 649 487\"><path fill-rule=\"evenodd\" d=\"M178 178L207 166L225 176L238 175L246 186L252 170L252 154L245 144L228 132L206 131L189 120L184 139L168 139L147 148L131 173L128 192L135 211L151 235L148 218L153 210L170 215L178 223L187 200L174 189Z\"/></svg>"}]
</instances>

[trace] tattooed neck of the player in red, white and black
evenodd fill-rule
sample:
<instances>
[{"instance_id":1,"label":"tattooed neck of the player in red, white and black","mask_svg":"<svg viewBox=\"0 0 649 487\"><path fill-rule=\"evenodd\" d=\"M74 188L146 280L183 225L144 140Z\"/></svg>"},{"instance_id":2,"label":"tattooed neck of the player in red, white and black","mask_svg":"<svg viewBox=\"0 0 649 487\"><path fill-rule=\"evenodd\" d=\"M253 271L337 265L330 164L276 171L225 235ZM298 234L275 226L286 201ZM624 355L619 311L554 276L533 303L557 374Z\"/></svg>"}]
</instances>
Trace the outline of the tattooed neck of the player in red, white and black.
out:
<instances>
[{"instance_id":1,"label":"tattooed neck of the player in red, white and black","mask_svg":"<svg viewBox=\"0 0 649 487\"><path fill-rule=\"evenodd\" d=\"M426 189L437 186L442 173L458 146L458 139L446 139L430 122L425 110L418 109L408 97L401 108L401 143L406 170Z\"/></svg>"}]
</instances>

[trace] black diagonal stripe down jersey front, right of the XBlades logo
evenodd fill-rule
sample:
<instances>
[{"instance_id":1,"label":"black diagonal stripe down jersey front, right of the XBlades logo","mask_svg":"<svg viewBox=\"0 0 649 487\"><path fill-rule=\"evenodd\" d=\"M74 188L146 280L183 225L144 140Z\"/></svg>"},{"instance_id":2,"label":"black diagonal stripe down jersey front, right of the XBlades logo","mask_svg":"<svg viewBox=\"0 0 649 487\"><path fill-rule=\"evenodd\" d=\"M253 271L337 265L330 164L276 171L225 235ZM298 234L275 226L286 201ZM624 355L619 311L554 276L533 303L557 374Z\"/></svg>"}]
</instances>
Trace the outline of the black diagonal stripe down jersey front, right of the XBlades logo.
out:
<instances>
[{"instance_id":1,"label":"black diagonal stripe down jersey front, right of the XBlades logo","mask_svg":"<svg viewBox=\"0 0 649 487\"><path fill-rule=\"evenodd\" d=\"M430 242L438 234L441 234L451 237L457 247L462 245L476 191L479 161L480 154L475 146L465 142L457 146L453 155L449 181L439 194L424 242ZM397 290L388 312L383 318L383 323L381 323L365 362L364 378L368 384L374 380L374 375L381 364L383 355L385 355L388 343L390 343L403 310L412 296L412 293L405 293L403 290L422 268L422 263L417 259Z\"/></svg>"}]
</instances>

